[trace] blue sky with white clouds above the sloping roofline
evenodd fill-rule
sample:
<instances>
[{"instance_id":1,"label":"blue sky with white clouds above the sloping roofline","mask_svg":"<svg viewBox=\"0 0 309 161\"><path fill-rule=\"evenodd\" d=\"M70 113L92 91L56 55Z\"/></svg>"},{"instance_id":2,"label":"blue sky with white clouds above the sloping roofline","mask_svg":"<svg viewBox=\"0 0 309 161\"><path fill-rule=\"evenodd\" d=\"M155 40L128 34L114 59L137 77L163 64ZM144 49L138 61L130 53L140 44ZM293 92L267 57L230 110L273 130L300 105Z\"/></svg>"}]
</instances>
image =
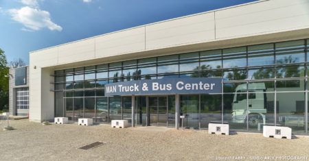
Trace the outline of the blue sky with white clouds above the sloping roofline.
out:
<instances>
[{"instance_id":1,"label":"blue sky with white clouds above the sloping roofline","mask_svg":"<svg viewBox=\"0 0 309 161\"><path fill-rule=\"evenodd\" d=\"M251 1L0 0L0 48L29 64L30 51Z\"/></svg>"}]
</instances>

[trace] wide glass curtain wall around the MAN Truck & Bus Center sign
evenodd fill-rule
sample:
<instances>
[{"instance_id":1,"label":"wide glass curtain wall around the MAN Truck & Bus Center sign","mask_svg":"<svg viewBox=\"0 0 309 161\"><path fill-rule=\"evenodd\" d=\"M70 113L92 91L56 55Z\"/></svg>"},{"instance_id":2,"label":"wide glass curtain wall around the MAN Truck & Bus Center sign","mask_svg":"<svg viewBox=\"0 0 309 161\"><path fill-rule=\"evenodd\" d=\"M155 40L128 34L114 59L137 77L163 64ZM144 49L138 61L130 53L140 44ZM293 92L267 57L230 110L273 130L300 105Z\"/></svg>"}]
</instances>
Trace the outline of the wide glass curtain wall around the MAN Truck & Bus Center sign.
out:
<instances>
[{"instance_id":1,"label":"wide glass curtain wall around the MAN Truck & Bus Center sign","mask_svg":"<svg viewBox=\"0 0 309 161\"><path fill-rule=\"evenodd\" d=\"M224 90L220 97L181 97L183 114L189 114L185 126L207 127L209 121L220 120L221 112L221 119L229 122L231 129L260 132L262 121L286 125L295 134L303 134L308 127L308 107L304 103L308 101L308 59L306 39L58 70L54 73L55 110L58 116L63 113L71 121L87 116L110 122L124 115L127 104L121 97L104 97L104 84L165 77L222 77ZM284 107L284 97L290 99L289 107ZM146 109L140 111L145 114ZM172 113L173 108L168 118Z\"/></svg>"}]
</instances>

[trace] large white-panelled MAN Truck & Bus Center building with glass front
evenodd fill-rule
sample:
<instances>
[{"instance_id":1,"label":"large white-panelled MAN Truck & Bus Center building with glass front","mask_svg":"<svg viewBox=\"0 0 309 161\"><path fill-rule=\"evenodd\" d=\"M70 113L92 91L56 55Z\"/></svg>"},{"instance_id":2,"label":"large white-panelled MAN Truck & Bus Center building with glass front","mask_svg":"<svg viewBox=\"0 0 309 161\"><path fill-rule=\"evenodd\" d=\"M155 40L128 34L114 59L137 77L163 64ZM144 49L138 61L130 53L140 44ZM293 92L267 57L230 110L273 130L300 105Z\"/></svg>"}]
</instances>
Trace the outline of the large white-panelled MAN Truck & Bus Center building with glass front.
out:
<instances>
[{"instance_id":1,"label":"large white-panelled MAN Truck & Bus Center building with glass front","mask_svg":"<svg viewBox=\"0 0 309 161\"><path fill-rule=\"evenodd\" d=\"M33 51L30 121L308 134L308 38L309 1L271 0Z\"/></svg>"}]
</instances>

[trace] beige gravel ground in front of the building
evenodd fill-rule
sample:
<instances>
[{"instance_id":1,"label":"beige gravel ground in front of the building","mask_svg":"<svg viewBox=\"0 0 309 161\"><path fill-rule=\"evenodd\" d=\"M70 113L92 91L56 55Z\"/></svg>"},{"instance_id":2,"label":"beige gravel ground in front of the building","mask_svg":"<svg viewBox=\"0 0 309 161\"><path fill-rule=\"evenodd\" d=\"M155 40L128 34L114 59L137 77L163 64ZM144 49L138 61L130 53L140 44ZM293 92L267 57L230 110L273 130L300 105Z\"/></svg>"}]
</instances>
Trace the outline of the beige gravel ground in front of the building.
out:
<instances>
[{"instance_id":1,"label":"beige gravel ground in front of the building","mask_svg":"<svg viewBox=\"0 0 309 161\"><path fill-rule=\"evenodd\" d=\"M253 156L309 156L307 136L286 140L264 138L262 134L219 136L207 131L153 127L148 131L109 125L41 125L28 120L10 123L14 130L0 131L0 160L250 160ZM0 127L4 125L0 121ZM96 141L105 144L87 151L77 149ZM225 156L230 158L220 158Z\"/></svg>"}]
</instances>

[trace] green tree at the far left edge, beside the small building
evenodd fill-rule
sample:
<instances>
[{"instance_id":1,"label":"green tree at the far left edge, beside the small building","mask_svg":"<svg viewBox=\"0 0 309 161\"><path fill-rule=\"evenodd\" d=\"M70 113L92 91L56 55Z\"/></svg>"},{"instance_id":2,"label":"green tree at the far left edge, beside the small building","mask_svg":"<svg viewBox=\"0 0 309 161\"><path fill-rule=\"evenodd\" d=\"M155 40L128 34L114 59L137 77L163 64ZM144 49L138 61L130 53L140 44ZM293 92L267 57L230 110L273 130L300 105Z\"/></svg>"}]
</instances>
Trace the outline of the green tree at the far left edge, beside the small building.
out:
<instances>
[{"instance_id":1,"label":"green tree at the far left edge, beside the small building","mask_svg":"<svg viewBox=\"0 0 309 161\"><path fill-rule=\"evenodd\" d=\"M8 109L9 68L4 51L0 49L0 110Z\"/></svg>"}]
</instances>

